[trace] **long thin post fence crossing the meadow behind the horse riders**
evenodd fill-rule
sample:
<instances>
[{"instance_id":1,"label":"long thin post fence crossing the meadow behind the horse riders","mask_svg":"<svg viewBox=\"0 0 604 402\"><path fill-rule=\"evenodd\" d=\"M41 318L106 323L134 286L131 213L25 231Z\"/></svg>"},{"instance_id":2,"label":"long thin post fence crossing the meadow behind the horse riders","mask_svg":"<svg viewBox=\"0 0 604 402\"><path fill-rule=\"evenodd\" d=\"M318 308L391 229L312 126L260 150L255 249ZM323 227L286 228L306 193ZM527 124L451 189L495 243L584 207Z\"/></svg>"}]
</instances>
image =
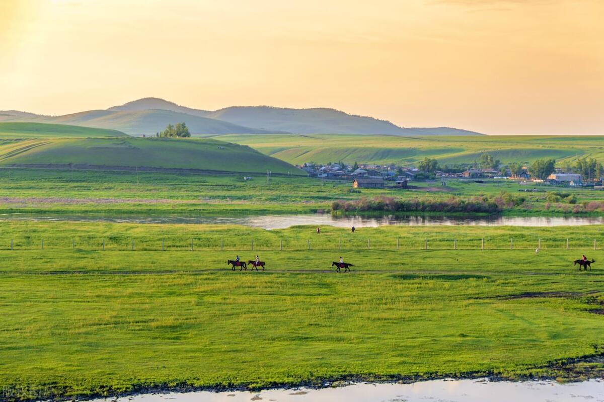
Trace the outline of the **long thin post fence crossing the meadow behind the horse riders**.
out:
<instances>
[{"instance_id":1,"label":"long thin post fence crossing the meadow behind the horse riders","mask_svg":"<svg viewBox=\"0 0 604 402\"><path fill-rule=\"evenodd\" d=\"M4 244L3 244L4 243ZM0 238L0 250L245 251L245 250L598 250L597 238L321 237L315 238Z\"/></svg>"}]
</instances>

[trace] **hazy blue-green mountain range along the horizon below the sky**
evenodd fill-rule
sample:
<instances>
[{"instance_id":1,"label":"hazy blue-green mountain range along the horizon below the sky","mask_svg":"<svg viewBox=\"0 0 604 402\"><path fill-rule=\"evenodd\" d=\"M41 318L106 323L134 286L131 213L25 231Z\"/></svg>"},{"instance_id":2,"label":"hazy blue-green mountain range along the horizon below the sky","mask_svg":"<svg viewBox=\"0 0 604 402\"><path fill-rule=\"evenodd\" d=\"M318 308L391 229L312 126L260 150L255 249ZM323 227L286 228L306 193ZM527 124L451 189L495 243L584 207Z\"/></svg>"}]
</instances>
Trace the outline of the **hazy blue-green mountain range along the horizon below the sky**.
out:
<instances>
[{"instance_id":1,"label":"hazy blue-green mountain range along the horizon below the sky","mask_svg":"<svg viewBox=\"0 0 604 402\"><path fill-rule=\"evenodd\" d=\"M0 121L73 124L120 130L129 135L153 135L168 124L187 123L194 135L295 133L376 134L398 136L481 135L449 127L406 128L387 120L350 115L336 109L291 109L271 106L231 106L213 112L160 98L142 98L106 110L88 110L63 116L0 111Z\"/></svg>"}]
</instances>

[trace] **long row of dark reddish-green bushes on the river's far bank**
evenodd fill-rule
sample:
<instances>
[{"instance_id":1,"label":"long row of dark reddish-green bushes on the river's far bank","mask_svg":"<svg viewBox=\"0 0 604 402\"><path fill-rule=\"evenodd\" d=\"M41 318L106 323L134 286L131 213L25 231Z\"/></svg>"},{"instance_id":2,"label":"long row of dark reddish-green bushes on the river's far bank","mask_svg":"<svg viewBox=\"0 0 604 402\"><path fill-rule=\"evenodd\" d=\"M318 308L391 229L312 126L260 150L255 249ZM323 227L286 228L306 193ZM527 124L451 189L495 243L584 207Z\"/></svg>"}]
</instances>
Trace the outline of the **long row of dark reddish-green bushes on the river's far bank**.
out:
<instances>
[{"instance_id":1,"label":"long row of dark reddish-green bushes on the river's far bank","mask_svg":"<svg viewBox=\"0 0 604 402\"><path fill-rule=\"evenodd\" d=\"M489 197L472 197L470 199L451 197L446 200L397 200L391 197L376 197L353 201L334 201L332 203L332 212L464 212L495 214L503 211L504 206L506 205L501 200L490 199Z\"/></svg>"}]
</instances>

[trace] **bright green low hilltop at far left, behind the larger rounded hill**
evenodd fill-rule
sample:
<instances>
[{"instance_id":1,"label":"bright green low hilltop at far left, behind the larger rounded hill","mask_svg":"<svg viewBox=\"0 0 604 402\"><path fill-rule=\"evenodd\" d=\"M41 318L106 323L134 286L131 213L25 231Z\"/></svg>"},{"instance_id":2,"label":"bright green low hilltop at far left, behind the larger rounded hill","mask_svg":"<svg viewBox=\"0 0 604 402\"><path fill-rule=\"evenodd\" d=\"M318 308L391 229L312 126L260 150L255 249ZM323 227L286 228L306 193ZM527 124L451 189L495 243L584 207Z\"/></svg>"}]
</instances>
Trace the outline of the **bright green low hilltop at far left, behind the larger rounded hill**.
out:
<instances>
[{"instance_id":1,"label":"bright green low hilltop at far left, behind the larger rounded hill","mask_svg":"<svg viewBox=\"0 0 604 402\"><path fill-rule=\"evenodd\" d=\"M124 137L123 132L66 124L0 123L0 138Z\"/></svg>"}]
</instances>

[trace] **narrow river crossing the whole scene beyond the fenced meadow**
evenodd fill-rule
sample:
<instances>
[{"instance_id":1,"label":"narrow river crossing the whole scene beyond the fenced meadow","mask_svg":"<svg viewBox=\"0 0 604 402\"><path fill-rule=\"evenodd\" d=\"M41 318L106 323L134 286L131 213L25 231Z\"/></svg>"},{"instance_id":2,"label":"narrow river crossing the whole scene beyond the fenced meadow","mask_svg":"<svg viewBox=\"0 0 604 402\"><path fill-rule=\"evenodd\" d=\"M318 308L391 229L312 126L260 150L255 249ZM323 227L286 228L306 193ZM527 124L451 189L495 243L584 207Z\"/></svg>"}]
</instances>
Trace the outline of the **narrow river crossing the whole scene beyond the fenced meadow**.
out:
<instances>
[{"instance_id":1,"label":"narrow river crossing the whole scene beyond the fenced meadow","mask_svg":"<svg viewBox=\"0 0 604 402\"><path fill-rule=\"evenodd\" d=\"M297 215L53 215L53 214L4 214L0 220L76 221L76 222L130 222L130 223L194 223L211 225L243 225L263 229L284 229L295 225L339 226L342 228L376 227L383 225L466 225L466 226L577 226L604 225L604 217L508 217L508 216L451 216L442 215L383 215L364 217L359 215L335 216L331 214Z\"/></svg>"}]
</instances>

